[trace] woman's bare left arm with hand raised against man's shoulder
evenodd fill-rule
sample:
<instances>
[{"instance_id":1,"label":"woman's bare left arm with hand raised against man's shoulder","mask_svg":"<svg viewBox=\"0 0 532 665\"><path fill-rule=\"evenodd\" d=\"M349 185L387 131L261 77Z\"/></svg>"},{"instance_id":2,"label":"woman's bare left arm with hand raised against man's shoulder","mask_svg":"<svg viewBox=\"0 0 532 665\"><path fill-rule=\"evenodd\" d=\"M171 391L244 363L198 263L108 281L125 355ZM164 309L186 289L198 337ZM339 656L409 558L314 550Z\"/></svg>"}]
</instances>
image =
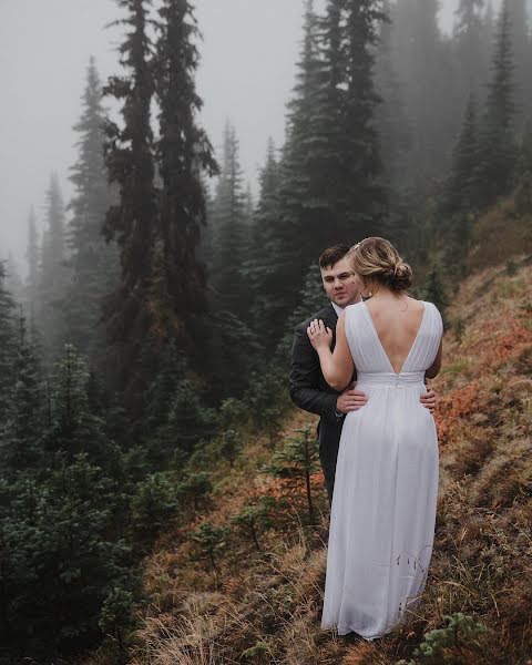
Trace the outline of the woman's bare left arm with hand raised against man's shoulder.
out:
<instances>
[{"instance_id":1,"label":"woman's bare left arm with hand raised against man's shoulder","mask_svg":"<svg viewBox=\"0 0 532 665\"><path fill-rule=\"evenodd\" d=\"M325 380L335 390L344 390L350 383L355 372L355 364L349 345L347 344L345 313L340 316L336 325L336 346L334 352L330 351L332 332L330 328L325 327L324 321L315 319L308 326L307 335L310 344L318 354Z\"/></svg>"}]
</instances>

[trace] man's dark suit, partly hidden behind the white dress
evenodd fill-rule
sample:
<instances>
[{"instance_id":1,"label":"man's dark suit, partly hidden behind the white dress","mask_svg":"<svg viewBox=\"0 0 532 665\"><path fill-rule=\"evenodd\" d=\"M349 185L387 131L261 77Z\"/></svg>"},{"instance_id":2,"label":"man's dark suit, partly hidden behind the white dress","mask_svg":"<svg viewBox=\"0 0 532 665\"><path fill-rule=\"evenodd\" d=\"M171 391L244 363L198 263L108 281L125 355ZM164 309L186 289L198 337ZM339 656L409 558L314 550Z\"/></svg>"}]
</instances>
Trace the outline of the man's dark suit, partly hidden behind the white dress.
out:
<instances>
[{"instance_id":1,"label":"man's dark suit, partly hidden behind the white dress","mask_svg":"<svg viewBox=\"0 0 532 665\"><path fill-rule=\"evenodd\" d=\"M339 392L324 379L318 354L307 337L307 327L315 318L323 319L324 324L332 330L332 348L336 342L338 317L332 305L327 305L296 327L291 347L290 398L300 409L320 417L319 459L329 501L331 501L344 416L336 416L336 400Z\"/></svg>"}]
</instances>

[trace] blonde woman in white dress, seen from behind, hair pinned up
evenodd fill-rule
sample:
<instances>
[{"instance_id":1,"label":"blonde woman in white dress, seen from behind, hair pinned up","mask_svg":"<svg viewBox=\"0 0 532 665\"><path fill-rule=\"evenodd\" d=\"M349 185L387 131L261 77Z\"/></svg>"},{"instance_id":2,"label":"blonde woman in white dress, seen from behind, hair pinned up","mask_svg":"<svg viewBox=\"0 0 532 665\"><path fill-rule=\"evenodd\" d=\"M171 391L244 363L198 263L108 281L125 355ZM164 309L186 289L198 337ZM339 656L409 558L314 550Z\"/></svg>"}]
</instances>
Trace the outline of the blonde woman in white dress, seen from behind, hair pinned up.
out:
<instances>
[{"instance_id":1,"label":"blonde woman in white dress, seen from behind, hair pinned up","mask_svg":"<svg viewBox=\"0 0 532 665\"><path fill-rule=\"evenodd\" d=\"M389 633L419 600L434 535L438 440L419 397L441 366L441 316L407 295L412 270L382 238L347 255L368 299L346 308L336 347L307 329L327 382L354 372L367 406L348 413L335 477L321 627L366 640Z\"/></svg>"}]
</instances>

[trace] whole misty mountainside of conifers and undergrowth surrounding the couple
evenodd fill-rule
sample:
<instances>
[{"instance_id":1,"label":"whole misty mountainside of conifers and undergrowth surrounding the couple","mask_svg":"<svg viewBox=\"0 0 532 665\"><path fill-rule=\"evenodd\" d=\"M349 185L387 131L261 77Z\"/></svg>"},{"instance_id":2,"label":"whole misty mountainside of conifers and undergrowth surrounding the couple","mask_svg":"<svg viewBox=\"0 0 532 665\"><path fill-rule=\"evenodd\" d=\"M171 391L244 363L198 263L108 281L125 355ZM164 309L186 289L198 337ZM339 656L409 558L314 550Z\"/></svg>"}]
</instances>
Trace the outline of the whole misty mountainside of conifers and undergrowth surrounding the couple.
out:
<instances>
[{"instance_id":1,"label":"whole misty mountainside of conifers and undergrowth surrounding the couple","mask_svg":"<svg viewBox=\"0 0 532 665\"><path fill-rule=\"evenodd\" d=\"M244 652L256 663L340 662L334 659L339 645L329 637L323 653L310 649L316 617L306 611L318 596L308 600L296 580L298 567L310 564L318 593L324 498L287 504L284 494L297 494L301 474L313 477L319 493L316 464L301 467L301 457L314 460L314 438L305 419L291 443L282 431L293 418L286 391L293 328L324 301L317 258L329 245L369 235L397 244L415 267L415 293L446 314L454 369L439 382L442 436L452 432L449 454L471 458L446 462L454 473L446 505L458 512L441 516L449 524L440 534L448 559L437 562L434 574L441 575L443 601L436 612L439 601L429 598L412 644L444 625L446 613L463 612L469 618L451 622L492 648L490 662L524 663L532 632L529 620L516 625L515 616L526 614L526 592L512 586L505 556L515 548L524 570L531 554L522 520L530 513L530 399L519 392L530 378L523 285L530 285L532 253L525 0L504 0L497 16L484 0L460 0L451 35L441 32L437 0L328 0L324 12L307 0L286 141L265 146L257 201L239 165L237 127L227 121L222 154L215 155L201 126L201 25L193 6L116 1L123 10L120 73L102 82L95 61L89 63L70 176L75 194L64 202L52 173L42 234L30 209L24 278L12 262L0 264L0 664L72 663L99 645L86 662L229 663L242 662ZM117 105L117 117L105 110L108 101ZM491 308L489 294L500 308ZM500 344L490 346L483 327L471 332L481 320L477 301L492 317L482 323L485 329L501 317L501 328L493 329ZM468 315L462 306L471 308ZM514 356L518 350L522 356ZM490 356L485 367L481 354ZM499 370L523 381L503 411L495 388L493 395L479 392L485 377L500 386ZM482 410L487 403L501 422ZM485 422L477 423L482 413ZM483 458L473 447L479 439ZM488 470L484 459L493 460ZM213 501L231 498L232 484L245 484L259 460L269 478L264 488L277 490L232 505L231 526L208 519ZM498 464L512 469L513 479L500 497ZM284 479L279 487L276 478ZM479 503L478 497L488 498ZM229 503L221 510L231 512ZM478 505L488 512L474 513ZM468 541L453 520L461 521L468 507L477 515L468 513L478 542L493 561L502 557L500 565L473 542L474 573L460 559ZM499 507L513 524L508 532ZM491 520L491 531L481 531L480 514ZM263 542L262 531L270 528ZM285 569L293 587L266 584L260 598L275 606L272 624L258 627L238 614L233 633L242 642L222 652L232 659L215 654L209 661L202 649L211 648L216 622L201 624L200 636L192 631L187 646L180 632L164 637L160 612L200 625L201 603L221 606L221 594L229 598L245 589L226 571L227 562L249 554L244 540L233 540L238 530L252 538L252 551L262 553L273 575ZM285 536L287 550L278 559ZM158 554L152 556L154 548ZM190 608L200 603L195 614L161 592L174 583L182 589L172 575L188 555L205 560L194 573L185 571L191 595L182 601ZM160 559L166 563L157 567ZM451 559L477 582L448 571ZM501 580L508 582L504 593ZM456 591L443 593L447 583ZM475 584L491 595L479 600ZM214 590L212 601L203 592L195 598L194 589ZM511 606L512 594L521 594L522 603ZM149 617L145 632L140 616ZM290 633L295 618L308 631ZM484 622L501 632L501 651L479 627ZM454 628L442 630L450 635ZM283 645L272 647L267 636L279 631ZM178 647L171 656L166 638ZM410 644L408 635L397 640ZM345 664L392 663L396 656L482 662L469 655L430 661L407 646L378 652L380 661L367 651L366 661ZM315 655L298 661L307 647ZM323 658L313 661L318 653Z\"/></svg>"}]
</instances>

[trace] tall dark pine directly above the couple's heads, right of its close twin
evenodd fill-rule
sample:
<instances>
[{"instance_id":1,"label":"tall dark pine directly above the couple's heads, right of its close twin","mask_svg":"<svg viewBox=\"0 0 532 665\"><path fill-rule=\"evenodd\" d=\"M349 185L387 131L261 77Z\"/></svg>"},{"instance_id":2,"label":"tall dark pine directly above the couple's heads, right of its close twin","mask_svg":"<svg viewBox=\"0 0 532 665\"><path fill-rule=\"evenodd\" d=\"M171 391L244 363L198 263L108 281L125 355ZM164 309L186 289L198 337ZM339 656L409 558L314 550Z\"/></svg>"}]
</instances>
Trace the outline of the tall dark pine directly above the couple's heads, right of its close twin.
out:
<instances>
[{"instance_id":1,"label":"tall dark pine directly above the couple's heads, right of its close twin","mask_svg":"<svg viewBox=\"0 0 532 665\"><path fill-rule=\"evenodd\" d=\"M385 19L375 0L330 0L324 19L321 42L326 94L316 108L320 115L314 154L315 178L321 178L321 196L329 221L328 236L314 247L323 248L331 235L336 241L371 235L379 228L386 205L375 114L375 48L377 25ZM311 192L310 194L314 194ZM318 221L316 221L318 223ZM315 231L315 229L311 229ZM330 242L329 242L330 244Z\"/></svg>"}]
</instances>

